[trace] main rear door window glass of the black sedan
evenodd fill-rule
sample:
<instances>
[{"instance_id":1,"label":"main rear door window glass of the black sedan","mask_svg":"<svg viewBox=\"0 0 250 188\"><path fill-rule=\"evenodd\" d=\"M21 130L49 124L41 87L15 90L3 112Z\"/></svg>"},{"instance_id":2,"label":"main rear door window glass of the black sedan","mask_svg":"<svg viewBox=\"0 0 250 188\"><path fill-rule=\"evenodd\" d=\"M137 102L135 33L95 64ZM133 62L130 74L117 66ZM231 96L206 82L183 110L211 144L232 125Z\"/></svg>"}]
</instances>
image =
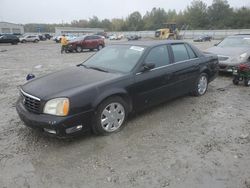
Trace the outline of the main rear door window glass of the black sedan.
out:
<instances>
[{"instance_id":1,"label":"main rear door window glass of the black sedan","mask_svg":"<svg viewBox=\"0 0 250 188\"><path fill-rule=\"evenodd\" d=\"M172 44L171 46L172 46L175 62L185 61L189 59L189 55L184 44Z\"/></svg>"}]
</instances>

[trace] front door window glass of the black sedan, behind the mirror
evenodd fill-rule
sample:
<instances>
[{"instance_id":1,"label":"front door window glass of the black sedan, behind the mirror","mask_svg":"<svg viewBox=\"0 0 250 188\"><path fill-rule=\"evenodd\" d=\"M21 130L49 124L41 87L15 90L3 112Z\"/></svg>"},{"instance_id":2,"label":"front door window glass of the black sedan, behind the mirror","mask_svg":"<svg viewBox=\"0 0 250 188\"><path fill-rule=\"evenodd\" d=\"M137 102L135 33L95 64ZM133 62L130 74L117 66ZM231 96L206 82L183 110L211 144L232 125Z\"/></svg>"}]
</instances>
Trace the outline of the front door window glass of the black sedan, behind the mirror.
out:
<instances>
[{"instance_id":1,"label":"front door window glass of the black sedan, behind the mirror","mask_svg":"<svg viewBox=\"0 0 250 188\"><path fill-rule=\"evenodd\" d=\"M161 67L169 64L169 54L167 46L154 47L145 59L145 63L154 63L155 67Z\"/></svg>"}]
</instances>

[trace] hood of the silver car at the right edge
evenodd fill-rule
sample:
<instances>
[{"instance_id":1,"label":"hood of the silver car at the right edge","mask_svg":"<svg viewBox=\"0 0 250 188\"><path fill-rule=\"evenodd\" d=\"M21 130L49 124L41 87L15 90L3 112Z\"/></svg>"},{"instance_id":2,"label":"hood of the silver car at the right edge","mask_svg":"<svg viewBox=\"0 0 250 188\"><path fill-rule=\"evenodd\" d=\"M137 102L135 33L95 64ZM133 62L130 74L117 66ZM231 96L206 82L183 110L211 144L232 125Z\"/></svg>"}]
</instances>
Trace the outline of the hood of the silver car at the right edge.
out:
<instances>
[{"instance_id":1,"label":"hood of the silver car at the right edge","mask_svg":"<svg viewBox=\"0 0 250 188\"><path fill-rule=\"evenodd\" d=\"M247 51L250 51L250 48L247 47L219 47L214 46L212 48L208 48L205 52L213 53L216 55L224 55L229 57L239 56Z\"/></svg>"}]
</instances>

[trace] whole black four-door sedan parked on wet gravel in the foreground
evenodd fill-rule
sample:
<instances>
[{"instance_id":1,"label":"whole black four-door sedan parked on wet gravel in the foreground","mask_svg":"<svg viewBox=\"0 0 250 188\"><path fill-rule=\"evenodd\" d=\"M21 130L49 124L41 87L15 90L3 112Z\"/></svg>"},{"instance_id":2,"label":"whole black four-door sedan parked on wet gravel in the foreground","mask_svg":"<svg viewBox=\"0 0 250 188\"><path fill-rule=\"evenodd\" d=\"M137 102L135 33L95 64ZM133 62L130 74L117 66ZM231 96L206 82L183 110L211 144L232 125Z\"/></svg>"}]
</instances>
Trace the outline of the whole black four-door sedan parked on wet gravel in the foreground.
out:
<instances>
[{"instance_id":1,"label":"whole black four-door sedan parked on wet gravel in the foreground","mask_svg":"<svg viewBox=\"0 0 250 188\"><path fill-rule=\"evenodd\" d=\"M216 78L218 58L186 42L110 45L74 68L35 78L16 109L27 126L68 136L109 134L129 113L186 93L200 96Z\"/></svg>"}]
</instances>

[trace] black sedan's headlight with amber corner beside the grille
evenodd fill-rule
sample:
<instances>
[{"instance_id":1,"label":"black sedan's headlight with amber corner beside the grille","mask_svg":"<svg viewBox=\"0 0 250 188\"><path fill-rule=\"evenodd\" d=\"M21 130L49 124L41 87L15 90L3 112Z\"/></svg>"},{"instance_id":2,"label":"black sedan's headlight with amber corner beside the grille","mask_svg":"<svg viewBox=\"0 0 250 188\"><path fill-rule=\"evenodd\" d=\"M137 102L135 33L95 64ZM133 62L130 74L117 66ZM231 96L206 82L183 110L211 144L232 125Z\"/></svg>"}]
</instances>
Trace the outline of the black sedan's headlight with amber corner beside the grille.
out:
<instances>
[{"instance_id":1,"label":"black sedan's headlight with amber corner beside the grille","mask_svg":"<svg viewBox=\"0 0 250 188\"><path fill-rule=\"evenodd\" d=\"M69 99L55 98L46 102L43 113L56 116L66 116L69 112Z\"/></svg>"}]
</instances>

